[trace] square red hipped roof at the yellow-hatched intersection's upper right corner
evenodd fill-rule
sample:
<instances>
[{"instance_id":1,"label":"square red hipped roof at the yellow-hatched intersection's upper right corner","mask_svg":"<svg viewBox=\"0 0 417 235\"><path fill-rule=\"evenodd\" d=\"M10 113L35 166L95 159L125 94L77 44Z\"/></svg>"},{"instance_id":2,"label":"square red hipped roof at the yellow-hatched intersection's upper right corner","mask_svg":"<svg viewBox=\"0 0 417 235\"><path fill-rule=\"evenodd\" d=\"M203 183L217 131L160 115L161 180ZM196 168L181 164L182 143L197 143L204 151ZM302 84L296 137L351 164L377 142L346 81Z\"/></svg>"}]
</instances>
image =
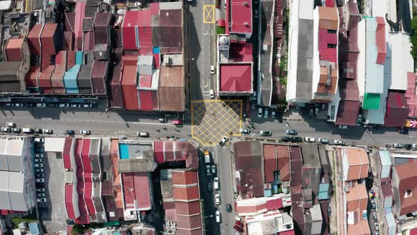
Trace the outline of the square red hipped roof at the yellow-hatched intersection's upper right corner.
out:
<instances>
[{"instance_id":1,"label":"square red hipped roof at the yellow-hatched intersection's upper right corner","mask_svg":"<svg viewBox=\"0 0 417 235\"><path fill-rule=\"evenodd\" d=\"M220 91L252 91L252 65L220 64Z\"/></svg>"}]
</instances>

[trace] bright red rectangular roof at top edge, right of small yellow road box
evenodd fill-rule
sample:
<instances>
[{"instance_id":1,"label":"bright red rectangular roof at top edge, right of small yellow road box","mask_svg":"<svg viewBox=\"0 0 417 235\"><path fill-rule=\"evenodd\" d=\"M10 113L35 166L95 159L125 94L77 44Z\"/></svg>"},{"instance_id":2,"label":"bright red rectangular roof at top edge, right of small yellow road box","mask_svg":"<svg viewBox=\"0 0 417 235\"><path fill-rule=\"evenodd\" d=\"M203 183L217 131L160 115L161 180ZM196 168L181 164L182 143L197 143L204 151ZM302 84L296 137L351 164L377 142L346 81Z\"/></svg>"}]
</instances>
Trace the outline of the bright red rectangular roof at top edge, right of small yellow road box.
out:
<instances>
[{"instance_id":1,"label":"bright red rectangular roof at top edge, right of small yellow road box","mask_svg":"<svg viewBox=\"0 0 417 235\"><path fill-rule=\"evenodd\" d=\"M229 2L231 5L230 33L252 33L252 0L230 0Z\"/></svg>"}]
</instances>

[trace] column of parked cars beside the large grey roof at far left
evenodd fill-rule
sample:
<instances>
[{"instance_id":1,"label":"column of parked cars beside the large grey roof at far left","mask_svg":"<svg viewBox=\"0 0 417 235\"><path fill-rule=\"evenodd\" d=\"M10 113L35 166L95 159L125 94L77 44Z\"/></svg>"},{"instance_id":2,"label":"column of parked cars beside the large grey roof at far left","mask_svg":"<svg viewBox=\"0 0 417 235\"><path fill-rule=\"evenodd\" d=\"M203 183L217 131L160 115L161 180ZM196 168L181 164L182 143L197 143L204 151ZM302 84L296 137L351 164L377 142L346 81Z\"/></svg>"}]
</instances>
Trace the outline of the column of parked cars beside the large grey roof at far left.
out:
<instances>
[{"instance_id":1,"label":"column of parked cars beside the large grey roof at far left","mask_svg":"<svg viewBox=\"0 0 417 235\"><path fill-rule=\"evenodd\" d=\"M42 137L35 137L33 139L33 144L35 147L35 154L33 159L35 162L35 183L39 187L36 188L36 202L38 203L47 202L45 187L43 187L43 183L45 183L45 171L43 168L43 158L45 156L44 143L45 139Z\"/></svg>"}]
</instances>

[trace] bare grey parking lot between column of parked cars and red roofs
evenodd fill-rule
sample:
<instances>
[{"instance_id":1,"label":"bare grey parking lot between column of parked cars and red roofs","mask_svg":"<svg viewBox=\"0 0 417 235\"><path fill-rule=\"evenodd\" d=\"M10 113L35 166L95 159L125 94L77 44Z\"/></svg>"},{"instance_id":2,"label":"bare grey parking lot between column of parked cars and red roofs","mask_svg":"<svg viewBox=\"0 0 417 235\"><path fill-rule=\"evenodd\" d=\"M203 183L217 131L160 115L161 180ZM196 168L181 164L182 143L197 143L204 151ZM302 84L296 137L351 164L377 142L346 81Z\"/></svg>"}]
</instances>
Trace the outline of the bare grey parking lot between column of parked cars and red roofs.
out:
<instances>
[{"instance_id":1,"label":"bare grey parking lot between column of parked cars and red roofs","mask_svg":"<svg viewBox=\"0 0 417 235\"><path fill-rule=\"evenodd\" d=\"M46 203L39 203L40 218L47 231L66 229L66 210L64 203L64 170L60 154L48 153L43 159L45 170Z\"/></svg>"}]
</instances>

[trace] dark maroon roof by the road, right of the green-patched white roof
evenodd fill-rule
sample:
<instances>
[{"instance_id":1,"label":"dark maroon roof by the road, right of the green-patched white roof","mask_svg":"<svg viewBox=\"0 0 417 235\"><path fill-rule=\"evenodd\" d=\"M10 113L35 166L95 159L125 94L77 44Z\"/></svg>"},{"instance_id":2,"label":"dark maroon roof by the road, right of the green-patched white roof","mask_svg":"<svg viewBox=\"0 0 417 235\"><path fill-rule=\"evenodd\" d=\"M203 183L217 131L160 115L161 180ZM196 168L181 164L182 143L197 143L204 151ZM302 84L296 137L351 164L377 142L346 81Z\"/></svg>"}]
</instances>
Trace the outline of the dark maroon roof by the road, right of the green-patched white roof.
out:
<instances>
[{"instance_id":1,"label":"dark maroon roof by the road, right of the green-patched white roof","mask_svg":"<svg viewBox=\"0 0 417 235\"><path fill-rule=\"evenodd\" d=\"M408 116L409 105L407 105L406 94L403 91L389 91L384 125L387 127L403 127Z\"/></svg>"}]
</instances>

